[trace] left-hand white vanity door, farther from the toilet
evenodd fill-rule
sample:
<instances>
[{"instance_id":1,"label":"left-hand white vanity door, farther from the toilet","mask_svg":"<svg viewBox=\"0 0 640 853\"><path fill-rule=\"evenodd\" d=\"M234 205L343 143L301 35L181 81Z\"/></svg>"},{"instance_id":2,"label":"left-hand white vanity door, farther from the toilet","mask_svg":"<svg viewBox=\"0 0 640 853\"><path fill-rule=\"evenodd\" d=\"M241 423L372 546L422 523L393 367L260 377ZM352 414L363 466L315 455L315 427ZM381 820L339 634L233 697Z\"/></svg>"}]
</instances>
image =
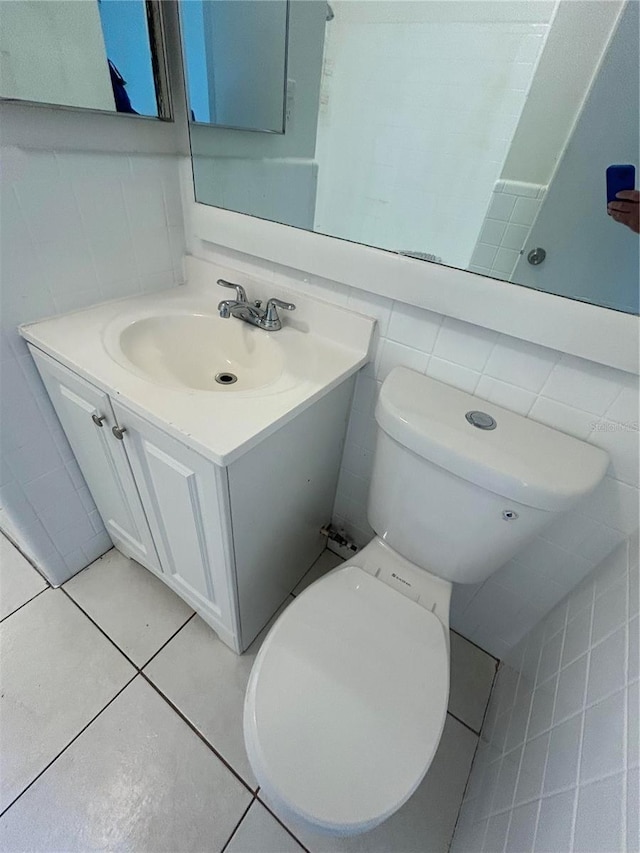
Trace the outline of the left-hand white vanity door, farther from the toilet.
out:
<instances>
[{"instance_id":1,"label":"left-hand white vanity door, farther from the toilet","mask_svg":"<svg viewBox=\"0 0 640 853\"><path fill-rule=\"evenodd\" d=\"M111 432L115 419L108 396L35 347L29 349L111 539L125 554L160 572L126 454Z\"/></svg>"}]
</instances>

